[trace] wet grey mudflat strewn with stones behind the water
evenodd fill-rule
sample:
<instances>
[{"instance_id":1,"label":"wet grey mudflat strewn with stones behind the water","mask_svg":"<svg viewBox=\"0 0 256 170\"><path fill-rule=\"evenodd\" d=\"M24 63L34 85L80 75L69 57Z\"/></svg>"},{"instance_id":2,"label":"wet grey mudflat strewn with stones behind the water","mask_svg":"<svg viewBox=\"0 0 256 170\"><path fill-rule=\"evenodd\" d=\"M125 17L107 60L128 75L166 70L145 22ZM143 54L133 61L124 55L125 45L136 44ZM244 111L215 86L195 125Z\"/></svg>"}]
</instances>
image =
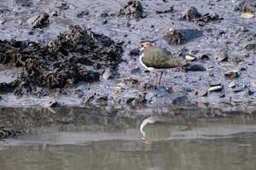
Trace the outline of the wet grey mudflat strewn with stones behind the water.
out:
<instances>
[{"instance_id":1,"label":"wet grey mudflat strewn with stones behind the water","mask_svg":"<svg viewBox=\"0 0 256 170\"><path fill-rule=\"evenodd\" d=\"M127 2L2 0L0 105L256 105L255 1ZM143 40L206 71L169 70L155 87Z\"/></svg>"}]
</instances>

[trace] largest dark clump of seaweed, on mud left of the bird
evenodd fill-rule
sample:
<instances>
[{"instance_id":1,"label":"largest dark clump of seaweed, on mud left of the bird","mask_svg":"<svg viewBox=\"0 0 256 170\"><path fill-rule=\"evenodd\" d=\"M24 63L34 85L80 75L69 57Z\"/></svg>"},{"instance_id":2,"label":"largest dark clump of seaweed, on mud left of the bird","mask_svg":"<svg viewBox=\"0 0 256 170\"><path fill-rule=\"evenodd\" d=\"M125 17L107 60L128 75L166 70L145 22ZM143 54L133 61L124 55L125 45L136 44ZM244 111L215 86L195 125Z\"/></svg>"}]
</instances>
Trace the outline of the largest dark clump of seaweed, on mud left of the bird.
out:
<instances>
[{"instance_id":1,"label":"largest dark clump of seaweed, on mud left of the bird","mask_svg":"<svg viewBox=\"0 0 256 170\"><path fill-rule=\"evenodd\" d=\"M28 41L0 41L3 65L21 67L15 94L38 94L38 88L64 88L76 82L96 82L100 71L119 64L122 44L79 26L49 45Z\"/></svg>"}]
</instances>

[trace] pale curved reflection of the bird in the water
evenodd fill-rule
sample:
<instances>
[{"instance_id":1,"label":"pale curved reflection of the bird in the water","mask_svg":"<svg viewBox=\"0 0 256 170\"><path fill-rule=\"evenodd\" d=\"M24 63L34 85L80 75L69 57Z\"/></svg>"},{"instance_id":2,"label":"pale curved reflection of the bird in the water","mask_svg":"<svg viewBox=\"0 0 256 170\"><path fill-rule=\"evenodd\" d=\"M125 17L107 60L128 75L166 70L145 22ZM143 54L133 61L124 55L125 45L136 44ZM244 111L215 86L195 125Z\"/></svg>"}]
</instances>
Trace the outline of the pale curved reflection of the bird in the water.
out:
<instances>
[{"instance_id":1,"label":"pale curved reflection of the bird in the water","mask_svg":"<svg viewBox=\"0 0 256 170\"><path fill-rule=\"evenodd\" d=\"M146 133L143 130L143 128L147 125L147 124L153 124L155 122L167 122L166 118L163 116L149 116L148 118L146 118L143 123L140 126L140 130L141 133L143 134L142 137L142 142L144 144L149 144L150 139L148 137L146 137Z\"/></svg>"}]
</instances>

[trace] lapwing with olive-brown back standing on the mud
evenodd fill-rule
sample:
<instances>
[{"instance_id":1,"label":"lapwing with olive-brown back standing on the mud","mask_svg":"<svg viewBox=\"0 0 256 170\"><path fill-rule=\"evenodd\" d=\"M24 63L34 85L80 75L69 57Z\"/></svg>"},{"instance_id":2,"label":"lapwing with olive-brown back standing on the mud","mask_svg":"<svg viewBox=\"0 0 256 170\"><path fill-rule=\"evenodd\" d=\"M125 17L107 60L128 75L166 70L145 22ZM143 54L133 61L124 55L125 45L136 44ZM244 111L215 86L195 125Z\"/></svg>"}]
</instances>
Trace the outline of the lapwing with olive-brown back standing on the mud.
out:
<instances>
[{"instance_id":1,"label":"lapwing with olive-brown back standing on the mud","mask_svg":"<svg viewBox=\"0 0 256 170\"><path fill-rule=\"evenodd\" d=\"M166 69L184 67L187 63L171 56L165 49L155 47L151 42L140 43L140 63L143 67L155 73L155 84L159 84ZM160 78L158 80L160 74Z\"/></svg>"}]
</instances>

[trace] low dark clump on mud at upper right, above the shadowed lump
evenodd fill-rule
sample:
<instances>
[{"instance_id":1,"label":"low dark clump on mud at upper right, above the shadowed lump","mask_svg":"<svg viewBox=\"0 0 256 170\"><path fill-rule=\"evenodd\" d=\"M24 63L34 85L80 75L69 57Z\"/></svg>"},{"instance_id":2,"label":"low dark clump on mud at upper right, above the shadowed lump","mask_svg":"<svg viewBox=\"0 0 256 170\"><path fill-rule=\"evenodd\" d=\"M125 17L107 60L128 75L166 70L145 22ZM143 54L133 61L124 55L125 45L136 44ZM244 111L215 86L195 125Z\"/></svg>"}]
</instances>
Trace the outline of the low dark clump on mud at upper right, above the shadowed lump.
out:
<instances>
[{"instance_id":1,"label":"low dark clump on mud at upper right, above the shadowed lump","mask_svg":"<svg viewBox=\"0 0 256 170\"><path fill-rule=\"evenodd\" d=\"M189 7L183 14L183 20L195 22L196 26L204 26L205 23L223 20L218 14L201 14L195 7Z\"/></svg>"}]
</instances>

